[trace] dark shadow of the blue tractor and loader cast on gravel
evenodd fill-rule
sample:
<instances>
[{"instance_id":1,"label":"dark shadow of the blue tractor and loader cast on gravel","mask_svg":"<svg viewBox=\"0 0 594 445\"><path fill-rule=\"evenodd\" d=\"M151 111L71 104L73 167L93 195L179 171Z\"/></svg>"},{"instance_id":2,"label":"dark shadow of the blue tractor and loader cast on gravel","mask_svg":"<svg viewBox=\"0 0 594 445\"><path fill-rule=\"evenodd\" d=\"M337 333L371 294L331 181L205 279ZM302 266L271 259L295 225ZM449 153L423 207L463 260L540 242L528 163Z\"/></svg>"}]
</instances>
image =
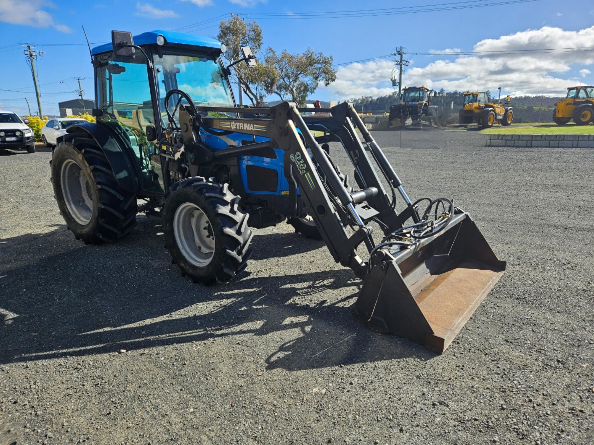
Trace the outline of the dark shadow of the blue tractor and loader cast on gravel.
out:
<instances>
[{"instance_id":1,"label":"dark shadow of the blue tractor and loader cast on gravel","mask_svg":"<svg viewBox=\"0 0 594 445\"><path fill-rule=\"evenodd\" d=\"M360 282L348 269L244 273L226 285L204 287L180 276L163 249L160 224L146 218L139 218L131 236L104 246L75 241L64 225L49 229L0 239L1 364L289 329L298 336L279 340L266 359L268 369L435 357L350 316ZM272 251L297 246L295 237L263 234L254 241L260 258L271 258Z\"/></svg>"}]
</instances>

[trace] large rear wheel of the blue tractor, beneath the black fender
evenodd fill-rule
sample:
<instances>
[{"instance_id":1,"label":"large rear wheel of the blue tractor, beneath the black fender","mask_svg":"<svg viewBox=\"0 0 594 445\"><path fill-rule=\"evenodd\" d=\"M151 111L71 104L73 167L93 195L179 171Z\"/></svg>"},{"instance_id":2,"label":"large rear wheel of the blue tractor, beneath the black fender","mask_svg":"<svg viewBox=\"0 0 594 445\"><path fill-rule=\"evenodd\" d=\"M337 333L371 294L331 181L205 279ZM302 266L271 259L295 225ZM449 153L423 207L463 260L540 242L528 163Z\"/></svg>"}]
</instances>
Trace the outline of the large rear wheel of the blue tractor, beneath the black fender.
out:
<instances>
[{"instance_id":1,"label":"large rear wheel of the blue tractor, beneath the black fender","mask_svg":"<svg viewBox=\"0 0 594 445\"><path fill-rule=\"evenodd\" d=\"M52 186L60 214L85 244L116 241L136 225L136 195L118 185L94 139L78 136L76 145L60 142L53 152Z\"/></svg>"}]
</instances>

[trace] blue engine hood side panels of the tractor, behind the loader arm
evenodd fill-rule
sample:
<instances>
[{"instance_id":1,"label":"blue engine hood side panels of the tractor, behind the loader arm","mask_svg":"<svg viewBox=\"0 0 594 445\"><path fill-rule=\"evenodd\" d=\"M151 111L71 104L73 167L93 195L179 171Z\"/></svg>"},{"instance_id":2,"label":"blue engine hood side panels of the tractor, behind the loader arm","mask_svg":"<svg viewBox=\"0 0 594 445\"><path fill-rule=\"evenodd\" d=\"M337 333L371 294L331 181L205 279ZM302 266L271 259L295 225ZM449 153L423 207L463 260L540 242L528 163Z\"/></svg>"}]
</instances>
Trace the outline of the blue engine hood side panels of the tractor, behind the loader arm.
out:
<instances>
[{"instance_id":1,"label":"blue engine hood side panels of the tractor, behind the loader arm","mask_svg":"<svg viewBox=\"0 0 594 445\"><path fill-rule=\"evenodd\" d=\"M208 133L204 133L201 134L201 137L204 144L208 145L208 147L210 148L214 148L214 150L224 150L225 148L228 148L229 145L234 144L241 147L242 140L252 139L252 136L241 133L232 133L227 136L214 136ZM268 138L264 138L263 136L255 136L255 141L265 142L268 141ZM246 192L254 193L254 195L282 195L283 191L286 193L288 192L289 183L285 178L285 171L283 171L283 155L285 154L285 151L281 150L280 148L276 148L274 152L276 153L276 159L264 158L261 156L254 155L241 155L238 157L239 174L241 175L241 181L244 184L244 189ZM276 192L257 192L254 190L249 190L248 178L245 173L245 167L249 165L276 170L279 178L279 182L277 183L276 187Z\"/></svg>"}]
</instances>

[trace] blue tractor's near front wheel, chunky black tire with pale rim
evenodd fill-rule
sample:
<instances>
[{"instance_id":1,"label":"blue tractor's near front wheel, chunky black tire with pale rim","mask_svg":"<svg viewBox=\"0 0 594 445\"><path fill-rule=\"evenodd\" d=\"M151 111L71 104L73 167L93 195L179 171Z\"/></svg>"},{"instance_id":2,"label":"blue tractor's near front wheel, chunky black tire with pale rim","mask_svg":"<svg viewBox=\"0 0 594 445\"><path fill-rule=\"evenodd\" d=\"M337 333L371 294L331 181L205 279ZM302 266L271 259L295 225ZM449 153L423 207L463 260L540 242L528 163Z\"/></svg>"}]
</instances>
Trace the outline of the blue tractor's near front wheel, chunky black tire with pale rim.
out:
<instances>
[{"instance_id":1,"label":"blue tractor's near front wheel, chunky black tire with pale rim","mask_svg":"<svg viewBox=\"0 0 594 445\"><path fill-rule=\"evenodd\" d=\"M165 247L172 263L182 276L206 285L239 275L251 255L248 217L228 184L203 177L174 183L163 208Z\"/></svg>"}]
</instances>

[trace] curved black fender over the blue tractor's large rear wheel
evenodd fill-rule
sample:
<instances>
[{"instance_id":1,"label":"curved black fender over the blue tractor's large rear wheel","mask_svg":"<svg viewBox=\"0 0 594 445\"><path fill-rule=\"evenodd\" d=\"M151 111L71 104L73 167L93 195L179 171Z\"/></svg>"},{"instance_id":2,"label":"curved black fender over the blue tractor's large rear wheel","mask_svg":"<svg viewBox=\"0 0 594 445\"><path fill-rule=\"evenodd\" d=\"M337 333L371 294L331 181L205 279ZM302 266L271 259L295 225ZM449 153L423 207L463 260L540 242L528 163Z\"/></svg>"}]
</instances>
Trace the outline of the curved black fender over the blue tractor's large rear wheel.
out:
<instances>
[{"instance_id":1,"label":"curved black fender over the blue tractor's large rear wheel","mask_svg":"<svg viewBox=\"0 0 594 445\"><path fill-rule=\"evenodd\" d=\"M113 128L102 122L84 122L69 126L66 131L67 134L57 138L58 144L64 141L76 145L77 134L84 132L91 135L108 158L118 185L127 192L140 192L140 181L131 147Z\"/></svg>"}]
</instances>

